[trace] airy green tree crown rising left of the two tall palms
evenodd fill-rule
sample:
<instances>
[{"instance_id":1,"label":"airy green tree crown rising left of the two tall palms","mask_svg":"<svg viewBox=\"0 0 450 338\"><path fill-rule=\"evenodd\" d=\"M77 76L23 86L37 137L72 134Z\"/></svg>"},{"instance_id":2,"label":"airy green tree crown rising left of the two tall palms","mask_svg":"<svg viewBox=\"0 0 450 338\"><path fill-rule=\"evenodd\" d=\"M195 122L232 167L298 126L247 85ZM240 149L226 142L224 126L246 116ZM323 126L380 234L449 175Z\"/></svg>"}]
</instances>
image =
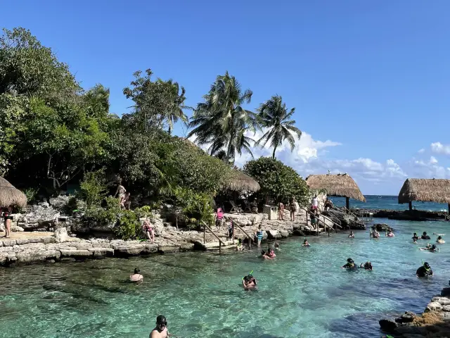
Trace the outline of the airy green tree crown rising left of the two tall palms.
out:
<instances>
[{"instance_id":1,"label":"airy green tree crown rising left of the two tall palms","mask_svg":"<svg viewBox=\"0 0 450 338\"><path fill-rule=\"evenodd\" d=\"M181 120L187 123L188 118L183 109L189 107L184 105L186 93L184 87L172 80L152 80L153 72L146 70L142 76L139 70L133 74L134 80L131 87L124 88L127 99L134 101L134 111L125 115L125 120L134 127L141 130L149 130L154 127L167 125L169 133L172 132L173 124Z\"/></svg>"}]
</instances>

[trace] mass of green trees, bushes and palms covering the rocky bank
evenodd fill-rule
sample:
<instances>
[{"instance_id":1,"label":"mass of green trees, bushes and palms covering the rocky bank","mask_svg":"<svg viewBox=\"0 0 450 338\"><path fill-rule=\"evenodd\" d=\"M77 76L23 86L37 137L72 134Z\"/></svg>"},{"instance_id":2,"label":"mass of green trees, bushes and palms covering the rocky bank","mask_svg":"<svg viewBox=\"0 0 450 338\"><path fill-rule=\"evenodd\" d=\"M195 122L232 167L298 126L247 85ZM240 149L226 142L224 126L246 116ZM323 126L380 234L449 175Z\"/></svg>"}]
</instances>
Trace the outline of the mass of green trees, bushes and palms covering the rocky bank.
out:
<instances>
[{"instance_id":1,"label":"mass of green trees, bushes and palms covering the rocky bank","mask_svg":"<svg viewBox=\"0 0 450 338\"><path fill-rule=\"evenodd\" d=\"M75 184L77 197L86 202L87 217L117 221L122 225L120 236L131 238L139 216L149 210L118 210L117 200L109 196L117 177L134 201L167 201L181 210L188 224L198 226L202 220L210 221L212 197L232 177L236 155L251 154L252 146L270 142L275 156L282 142L293 146L290 132L301 134L290 120L293 110L287 111L281 96L262 104L256 113L245 109L252 92L243 91L229 73L217 77L195 109L185 105L184 87L173 80L153 79L150 69L134 73L123 93L133 106L119 117L109 111L108 88L97 84L83 89L68 65L30 31L4 30L0 175L26 189L30 198L59 194ZM194 111L190 123L186 110ZM209 154L187 139L172 136L177 121L193 128L189 136L200 145L208 144ZM261 128L266 133L259 143L248 137L249 131ZM260 161L266 159L255 163ZM300 199L304 194L300 176L282 163L273 168L281 170L279 180L289 182L279 189L269 187L265 183L269 179L252 163L245 168L261 180L264 196Z\"/></svg>"}]
</instances>

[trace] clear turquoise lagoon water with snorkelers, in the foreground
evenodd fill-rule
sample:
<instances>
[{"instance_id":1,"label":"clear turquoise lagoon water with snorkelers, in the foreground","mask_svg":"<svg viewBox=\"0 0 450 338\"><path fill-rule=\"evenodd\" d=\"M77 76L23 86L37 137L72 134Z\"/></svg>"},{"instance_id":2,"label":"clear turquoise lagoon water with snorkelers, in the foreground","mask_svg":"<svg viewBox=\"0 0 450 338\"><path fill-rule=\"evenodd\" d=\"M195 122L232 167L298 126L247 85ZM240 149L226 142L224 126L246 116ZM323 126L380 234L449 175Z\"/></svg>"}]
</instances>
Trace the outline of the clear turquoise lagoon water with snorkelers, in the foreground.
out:
<instances>
[{"instance_id":1,"label":"clear turquoise lagoon water with snorkelers, in the foreground","mask_svg":"<svg viewBox=\"0 0 450 338\"><path fill-rule=\"evenodd\" d=\"M396 237L368 231L281 242L274 261L243 253L180 253L0 269L0 337L148 337L167 317L176 337L379 337L378 320L423 311L448 284L450 230L444 222L385 221ZM440 253L411 243L413 231L448 234ZM435 236L432 236L435 240ZM340 269L348 257L375 270ZM421 260L435 272L415 277ZM135 266L142 285L124 282ZM257 292L241 277L253 270Z\"/></svg>"}]
</instances>

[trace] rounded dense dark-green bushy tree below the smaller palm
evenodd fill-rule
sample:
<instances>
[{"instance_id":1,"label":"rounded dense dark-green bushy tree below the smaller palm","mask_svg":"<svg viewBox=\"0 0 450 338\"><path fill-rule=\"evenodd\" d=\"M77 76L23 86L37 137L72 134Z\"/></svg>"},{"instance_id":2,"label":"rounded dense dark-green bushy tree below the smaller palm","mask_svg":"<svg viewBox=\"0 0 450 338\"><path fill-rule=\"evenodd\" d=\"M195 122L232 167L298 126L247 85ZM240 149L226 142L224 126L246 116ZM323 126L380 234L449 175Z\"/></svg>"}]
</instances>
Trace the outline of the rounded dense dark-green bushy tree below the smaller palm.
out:
<instances>
[{"instance_id":1,"label":"rounded dense dark-green bushy tree below the smaller palm","mask_svg":"<svg viewBox=\"0 0 450 338\"><path fill-rule=\"evenodd\" d=\"M257 194L266 201L288 202L295 197L300 205L308 202L309 189L300 175L288 165L275 158L261 157L244 165L244 172L259 183Z\"/></svg>"}]
</instances>

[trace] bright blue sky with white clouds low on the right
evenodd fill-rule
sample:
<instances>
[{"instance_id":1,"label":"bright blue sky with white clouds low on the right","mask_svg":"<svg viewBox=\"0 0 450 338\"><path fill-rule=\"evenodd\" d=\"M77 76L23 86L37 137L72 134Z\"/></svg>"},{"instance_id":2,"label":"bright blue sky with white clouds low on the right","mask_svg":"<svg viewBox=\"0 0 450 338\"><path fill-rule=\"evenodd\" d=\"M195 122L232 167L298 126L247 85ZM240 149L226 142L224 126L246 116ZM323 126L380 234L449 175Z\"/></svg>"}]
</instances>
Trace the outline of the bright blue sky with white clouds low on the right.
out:
<instances>
[{"instance_id":1,"label":"bright blue sky with white clouds low on the right","mask_svg":"<svg viewBox=\"0 0 450 338\"><path fill-rule=\"evenodd\" d=\"M398 194L406 177L450 178L448 13L446 0L16 0L1 26L30 29L85 89L109 87L119 114L135 70L176 80L191 106L228 70L252 89L247 108L274 94L296 108L304 135L279 159Z\"/></svg>"}]
</instances>

